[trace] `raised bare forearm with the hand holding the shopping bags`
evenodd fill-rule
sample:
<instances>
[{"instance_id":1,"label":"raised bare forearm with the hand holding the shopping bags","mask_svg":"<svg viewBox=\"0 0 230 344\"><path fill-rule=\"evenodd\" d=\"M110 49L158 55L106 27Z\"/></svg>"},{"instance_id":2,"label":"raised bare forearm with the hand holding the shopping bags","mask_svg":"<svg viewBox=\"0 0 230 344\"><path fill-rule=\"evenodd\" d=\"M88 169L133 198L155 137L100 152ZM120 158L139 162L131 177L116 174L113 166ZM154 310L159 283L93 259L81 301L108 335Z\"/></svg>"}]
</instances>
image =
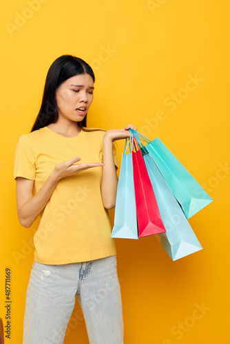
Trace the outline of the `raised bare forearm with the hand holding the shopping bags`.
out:
<instances>
[{"instance_id":1,"label":"raised bare forearm with the hand holding the shopping bags","mask_svg":"<svg viewBox=\"0 0 230 344\"><path fill-rule=\"evenodd\" d=\"M101 197L103 206L107 209L114 208L116 204L116 190L118 186L118 178L116 175L116 166L112 153L112 144L116 140L129 138L131 134L128 129L136 130L133 125L127 125L123 129L112 129L106 131L103 137L103 174L101 180Z\"/></svg>"}]
</instances>

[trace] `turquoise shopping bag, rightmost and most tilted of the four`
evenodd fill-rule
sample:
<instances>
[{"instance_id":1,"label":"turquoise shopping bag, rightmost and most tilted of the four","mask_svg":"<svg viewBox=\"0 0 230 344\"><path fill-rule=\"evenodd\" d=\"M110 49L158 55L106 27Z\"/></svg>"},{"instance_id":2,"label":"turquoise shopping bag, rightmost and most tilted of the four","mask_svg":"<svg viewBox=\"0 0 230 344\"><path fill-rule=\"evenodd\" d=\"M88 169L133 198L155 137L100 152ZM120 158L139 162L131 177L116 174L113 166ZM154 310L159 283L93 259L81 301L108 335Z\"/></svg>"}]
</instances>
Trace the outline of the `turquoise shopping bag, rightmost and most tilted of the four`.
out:
<instances>
[{"instance_id":1,"label":"turquoise shopping bag, rightmost and most tilted of the four","mask_svg":"<svg viewBox=\"0 0 230 344\"><path fill-rule=\"evenodd\" d=\"M213 202L207 192L195 178L185 169L179 160L167 149L159 138L150 141L141 133L129 129L133 135L147 142L145 149L151 155L171 192L180 203L187 219L198 213L202 208Z\"/></svg>"}]
</instances>

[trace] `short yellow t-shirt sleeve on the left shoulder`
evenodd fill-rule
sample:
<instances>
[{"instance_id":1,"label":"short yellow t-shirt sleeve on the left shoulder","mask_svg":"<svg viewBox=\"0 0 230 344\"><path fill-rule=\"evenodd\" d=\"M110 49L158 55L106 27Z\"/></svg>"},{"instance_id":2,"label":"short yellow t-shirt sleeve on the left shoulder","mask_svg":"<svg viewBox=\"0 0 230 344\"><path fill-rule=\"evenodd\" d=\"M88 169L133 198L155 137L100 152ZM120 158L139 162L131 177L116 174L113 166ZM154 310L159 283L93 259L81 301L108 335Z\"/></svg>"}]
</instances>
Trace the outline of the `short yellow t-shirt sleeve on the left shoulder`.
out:
<instances>
[{"instance_id":1,"label":"short yellow t-shirt sleeve on the left shoulder","mask_svg":"<svg viewBox=\"0 0 230 344\"><path fill-rule=\"evenodd\" d=\"M14 179L23 177L35 180L36 166L32 144L26 134L19 138L14 155Z\"/></svg>"}]
</instances>

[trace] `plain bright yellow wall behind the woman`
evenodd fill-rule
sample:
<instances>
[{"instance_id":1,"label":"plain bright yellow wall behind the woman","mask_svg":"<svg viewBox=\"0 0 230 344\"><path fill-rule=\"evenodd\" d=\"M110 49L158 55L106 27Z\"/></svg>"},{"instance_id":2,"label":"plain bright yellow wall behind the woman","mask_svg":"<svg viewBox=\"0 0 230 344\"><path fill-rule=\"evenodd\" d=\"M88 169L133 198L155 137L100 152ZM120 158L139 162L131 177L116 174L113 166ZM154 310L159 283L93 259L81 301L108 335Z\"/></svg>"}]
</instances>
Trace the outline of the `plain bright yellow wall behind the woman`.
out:
<instances>
[{"instance_id":1,"label":"plain bright yellow wall behind the woman","mask_svg":"<svg viewBox=\"0 0 230 344\"><path fill-rule=\"evenodd\" d=\"M189 219L203 250L178 261L156 236L116 239L125 344L229 343L229 10L227 0L12 0L2 7L4 325L8 267L12 278L6 343L22 343L38 224L23 228L17 218L14 150L32 127L48 68L62 54L85 59L96 74L89 126L132 123L158 136L214 200ZM119 162L123 146L118 142ZM88 343L79 305L65 337L71 343Z\"/></svg>"}]
</instances>

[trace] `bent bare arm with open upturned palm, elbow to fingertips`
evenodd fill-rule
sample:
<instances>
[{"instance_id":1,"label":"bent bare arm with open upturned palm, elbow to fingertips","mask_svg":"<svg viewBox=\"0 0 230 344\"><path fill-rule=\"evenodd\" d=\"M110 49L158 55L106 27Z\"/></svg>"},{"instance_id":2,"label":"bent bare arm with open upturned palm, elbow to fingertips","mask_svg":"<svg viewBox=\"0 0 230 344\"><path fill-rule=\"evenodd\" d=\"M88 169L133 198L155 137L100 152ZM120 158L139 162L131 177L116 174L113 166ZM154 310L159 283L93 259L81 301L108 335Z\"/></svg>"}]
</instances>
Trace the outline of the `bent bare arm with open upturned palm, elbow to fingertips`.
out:
<instances>
[{"instance_id":1,"label":"bent bare arm with open upturned palm, elbow to fingertips","mask_svg":"<svg viewBox=\"0 0 230 344\"><path fill-rule=\"evenodd\" d=\"M41 214L46 204L50 200L56 184L61 178L74 175L85 169L90 169L103 164L92 162L88 164L75 164L81 158L73 158L67 162L57 164L54 171L50 173L48 180L43 184L41 189L33 196L34 180L17 177L17 211L19 222L22 226L29 228L35 221L36 217Z\"/></svg>"}]
</instances>

